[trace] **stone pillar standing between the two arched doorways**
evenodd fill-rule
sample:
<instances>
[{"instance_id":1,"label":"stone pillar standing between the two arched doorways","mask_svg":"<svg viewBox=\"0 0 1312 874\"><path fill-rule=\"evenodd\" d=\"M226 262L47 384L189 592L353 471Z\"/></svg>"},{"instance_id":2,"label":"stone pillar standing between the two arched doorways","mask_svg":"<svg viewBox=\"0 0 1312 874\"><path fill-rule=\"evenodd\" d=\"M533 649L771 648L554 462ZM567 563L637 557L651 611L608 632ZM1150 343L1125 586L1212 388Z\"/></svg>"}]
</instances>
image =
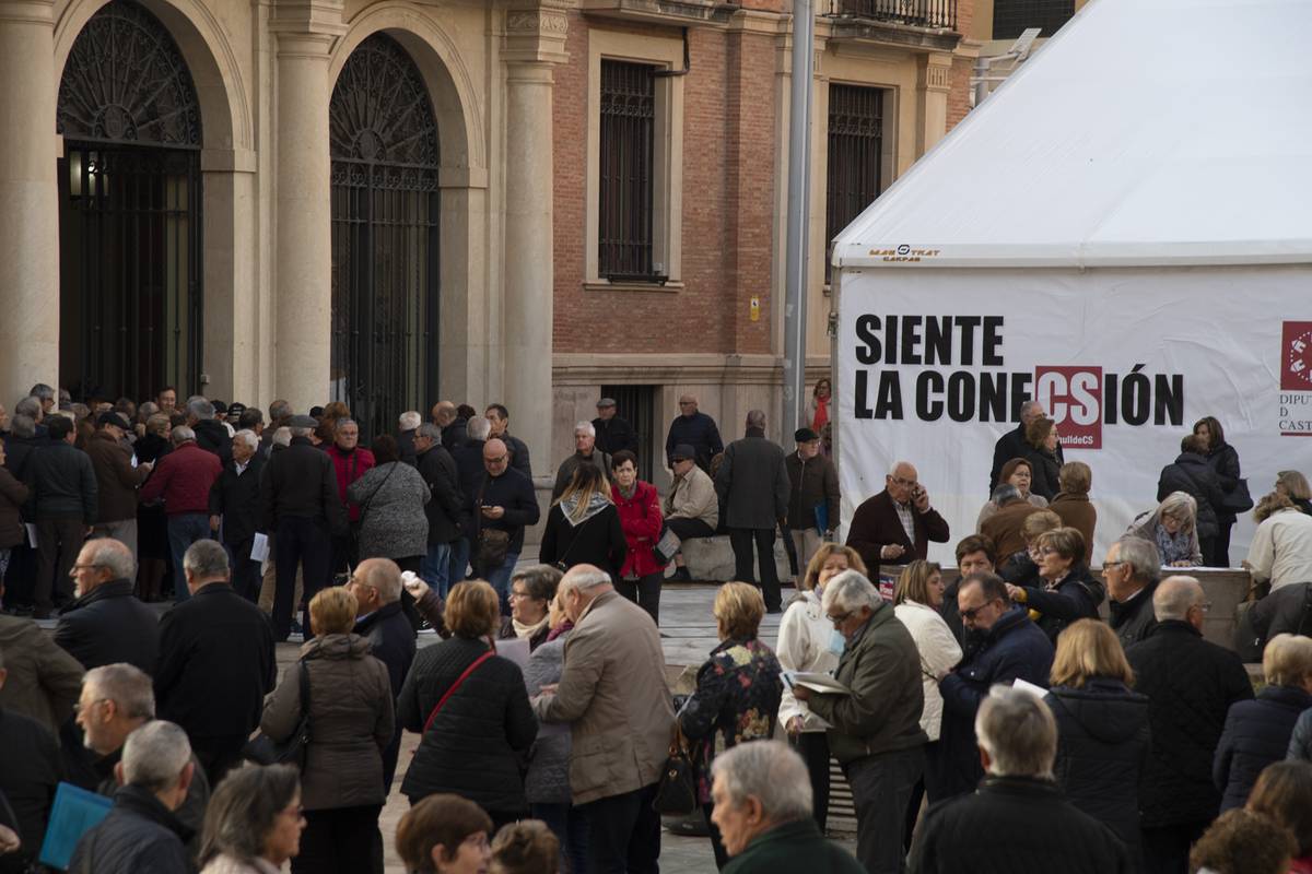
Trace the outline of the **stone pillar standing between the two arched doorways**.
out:
<instances>
[{"instance_id":1,"label":"stone pillar standing between the two arched doorways","mask_svg":"<svg viewBox=\"0 0 1312 874\"><path fill-rule=\"evenodd\" d=\"M331 3L276 7L274 396L306 413L328 401L332 200L328 47L344 31Z\"/></svg>"}]
</instances>

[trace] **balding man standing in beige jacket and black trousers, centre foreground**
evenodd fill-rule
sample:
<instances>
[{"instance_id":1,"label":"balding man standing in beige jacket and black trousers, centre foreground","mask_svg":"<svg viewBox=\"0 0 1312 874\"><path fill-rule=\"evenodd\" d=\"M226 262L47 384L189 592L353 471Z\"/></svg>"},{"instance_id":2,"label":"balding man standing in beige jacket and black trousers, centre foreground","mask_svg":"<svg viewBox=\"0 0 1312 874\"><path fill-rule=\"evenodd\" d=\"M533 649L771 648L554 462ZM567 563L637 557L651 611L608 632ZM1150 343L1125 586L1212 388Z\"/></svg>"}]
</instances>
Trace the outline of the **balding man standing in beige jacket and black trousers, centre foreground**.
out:
<instances>
[{"instance_id":1,"label":"balding man standing in beige jacket and black trousers, centre foreground","mask_svg":"<svg viewBox=\"0 0 1312 874\"><path fill-rule=\"evenodd\" d=\"M569 788L588 824L588 869L655 873L652 801L674 726L660 632L592 565L571 567L556 596L575 628L560 684L533 709L542 722L569 723Z\"/></svg>"}]
</instances>

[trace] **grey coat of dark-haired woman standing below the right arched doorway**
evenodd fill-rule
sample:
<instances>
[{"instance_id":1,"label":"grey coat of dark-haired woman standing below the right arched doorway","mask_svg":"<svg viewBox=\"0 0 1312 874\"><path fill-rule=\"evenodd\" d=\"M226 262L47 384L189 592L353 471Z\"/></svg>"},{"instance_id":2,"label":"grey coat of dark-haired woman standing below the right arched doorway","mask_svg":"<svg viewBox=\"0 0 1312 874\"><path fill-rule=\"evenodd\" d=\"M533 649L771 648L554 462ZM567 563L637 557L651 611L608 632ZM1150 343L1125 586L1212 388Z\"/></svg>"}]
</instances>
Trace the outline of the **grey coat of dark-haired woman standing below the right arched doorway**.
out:
<instances>
[{"instance_id":1,"label":"grey coat of dark-haired woman standing below the right arched doorway","mask_svg":"<svg viewBox=\"0 0 1312 874\"><path fill-rule=\"evenodd\" d=\"M429 490L424 474L404 461L370 468L346 487L346 499L359 504L359 557L408 558L428 554Z\"/></svg>"}]
</instances>

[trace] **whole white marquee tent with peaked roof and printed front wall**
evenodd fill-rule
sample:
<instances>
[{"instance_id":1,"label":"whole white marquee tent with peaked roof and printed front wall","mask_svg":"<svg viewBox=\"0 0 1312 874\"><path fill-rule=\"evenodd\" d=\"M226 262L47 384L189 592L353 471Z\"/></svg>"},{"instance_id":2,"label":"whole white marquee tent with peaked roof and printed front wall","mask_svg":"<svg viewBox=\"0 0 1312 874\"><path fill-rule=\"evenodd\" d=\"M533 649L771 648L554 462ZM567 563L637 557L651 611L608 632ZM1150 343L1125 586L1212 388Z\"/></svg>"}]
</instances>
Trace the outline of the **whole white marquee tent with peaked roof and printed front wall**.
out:
<instances>
[{"instance_id":1,"label":"whole white marquee tent with peaked roof and printed front wall","mask_svg":"<svg viewBox=\"0 0 1312 874\"><path fill-rule=\"evenodd\" d=\"M908 459L951 562L1034 393L1096 563L1204 415L1254 498L1312 477L1307 33L1305 0L1094 0L838 236L844 520Z\"/></svg>"}]
</instances>

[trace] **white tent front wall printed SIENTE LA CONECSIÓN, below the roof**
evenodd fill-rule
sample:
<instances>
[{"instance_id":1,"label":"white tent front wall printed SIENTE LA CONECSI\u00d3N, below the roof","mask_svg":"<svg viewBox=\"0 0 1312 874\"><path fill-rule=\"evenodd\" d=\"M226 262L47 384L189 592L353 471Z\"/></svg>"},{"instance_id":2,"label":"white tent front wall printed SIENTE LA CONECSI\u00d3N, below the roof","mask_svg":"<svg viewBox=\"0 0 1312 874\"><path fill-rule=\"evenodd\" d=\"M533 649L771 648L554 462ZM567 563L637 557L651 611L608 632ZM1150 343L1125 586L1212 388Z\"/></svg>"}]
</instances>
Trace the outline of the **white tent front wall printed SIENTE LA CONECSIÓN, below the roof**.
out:
<instances>
[{"instance_id":1,"label":"white tent front wall printed SIENTE LA CONECSI\u00d3N, below the roof","mask_svg":"<svg viewBox=\"0 0 1312 874\"><path fill-rule=\"evenodd\" d=\"M951 540L975 532L998 438L1036 398L1065 460L1093 472L1094 565L1157 503L1162 466L1203 417L1254 499L1312 476L1312 269L848 269L840 282L842 519L912 463ZM1233 531L1231 563L1254 523Z\"/></svg>"}]
</instances>

